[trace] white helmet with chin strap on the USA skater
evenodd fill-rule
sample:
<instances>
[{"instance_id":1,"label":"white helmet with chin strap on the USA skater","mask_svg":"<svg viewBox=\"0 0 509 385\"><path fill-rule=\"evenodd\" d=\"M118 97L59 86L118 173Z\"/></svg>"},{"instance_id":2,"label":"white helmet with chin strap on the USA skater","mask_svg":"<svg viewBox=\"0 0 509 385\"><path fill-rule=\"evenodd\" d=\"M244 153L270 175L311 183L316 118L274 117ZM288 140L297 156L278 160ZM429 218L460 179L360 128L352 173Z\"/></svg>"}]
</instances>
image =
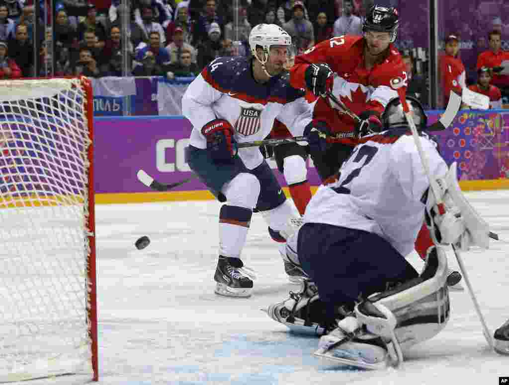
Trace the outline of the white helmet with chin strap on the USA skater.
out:
<instances>
[{"instance_id":1,"label":"white helmet with chin strap on the USA skater","mask_svg":"<svg viewBox=\"0 0 509 385\"><path fill-rule=\"evenodd\" d=\"M270 47L273 45L290 46L292 44L291 36L276 24L258 24L249 34L249 48L254 57L262 63L262 67L268 76L265 69L265 63L269 58ZM257 47L262 47L263 57L259 57Z\"/></svg>"}]
</instances>

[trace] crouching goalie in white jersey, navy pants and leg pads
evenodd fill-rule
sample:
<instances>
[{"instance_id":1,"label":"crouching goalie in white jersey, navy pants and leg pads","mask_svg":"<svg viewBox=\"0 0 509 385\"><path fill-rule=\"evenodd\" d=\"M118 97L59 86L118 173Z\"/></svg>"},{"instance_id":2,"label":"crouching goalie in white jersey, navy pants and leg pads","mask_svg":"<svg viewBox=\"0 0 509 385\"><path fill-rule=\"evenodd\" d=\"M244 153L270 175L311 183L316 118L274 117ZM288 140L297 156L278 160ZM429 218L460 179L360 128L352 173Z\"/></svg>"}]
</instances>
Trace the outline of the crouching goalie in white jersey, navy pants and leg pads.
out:
<instances>
[{"instance_id":1,"label":"crouching goalie in white jersey, navy pants and leg pads","mask_svg":"<svg viewBox=\"0 0 509 385\"><path fill-rule=\"evenodd\" d=\"M418 129L419 102L407 98ZM288 261L309 276L300 293L269 306L291 329L325 334L315 356L380 369L403 361L402 351L438 334L449 319L447 259L440 245L487 247L489 229L459 189L435 142L421 133L438 210L399 98L382 114L387 131L360 139L338 181L320 186L304 224L287 242ZM423 220L434 245L420 274L408 263Z\"/></svg>"}]
</instances>

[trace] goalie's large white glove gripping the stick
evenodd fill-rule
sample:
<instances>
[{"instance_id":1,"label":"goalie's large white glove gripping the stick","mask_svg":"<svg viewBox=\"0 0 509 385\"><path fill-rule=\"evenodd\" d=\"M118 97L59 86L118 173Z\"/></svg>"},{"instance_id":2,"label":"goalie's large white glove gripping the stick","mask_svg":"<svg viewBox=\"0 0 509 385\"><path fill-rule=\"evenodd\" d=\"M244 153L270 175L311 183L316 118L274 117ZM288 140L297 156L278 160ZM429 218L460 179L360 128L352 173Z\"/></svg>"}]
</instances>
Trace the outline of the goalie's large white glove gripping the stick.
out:
<instances>
[{"instance_id":1,"label":"goalie's large white glove gripping the stick","mask_svg":"<svg viewBox=\"0 0 509 385\"><path fill-rule=\"evenodd\" d=\"M462 251L470 246L489 247L490 229L488 223L468 203L458 184L456 162L447 175L437 179L443 209L430 188L426 202L426 225L436 245L454 244Z\"/></svg>"}]
</instances>

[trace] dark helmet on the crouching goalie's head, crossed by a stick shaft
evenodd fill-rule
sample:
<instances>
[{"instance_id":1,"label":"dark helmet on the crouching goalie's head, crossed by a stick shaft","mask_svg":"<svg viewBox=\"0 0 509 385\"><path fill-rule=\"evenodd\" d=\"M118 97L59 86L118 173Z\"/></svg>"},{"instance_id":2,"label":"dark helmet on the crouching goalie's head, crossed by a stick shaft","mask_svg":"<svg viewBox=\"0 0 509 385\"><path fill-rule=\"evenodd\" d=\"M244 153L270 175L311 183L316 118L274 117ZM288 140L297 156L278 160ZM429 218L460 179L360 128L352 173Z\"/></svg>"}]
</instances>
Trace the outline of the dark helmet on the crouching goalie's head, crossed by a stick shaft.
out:
<instances>
[{"instance_id":1,"label":"dark helmet on the crouching goalie's head, crossed by a stick shaft","mask_svg":"<svg viewBox=\"0 0 509 385\"><path fill-rule=\"evenodd\" d=\"M417 130L424 130L427 127L428 117L420 102L414 97L406 97L408 108L412 112L412 117L417 127ZM385 106L382 114L382 126L385 130L390 130L395 127L408 126L403 106L401 105L400 98L393 98Z\"/></svg>"}]
</instances>

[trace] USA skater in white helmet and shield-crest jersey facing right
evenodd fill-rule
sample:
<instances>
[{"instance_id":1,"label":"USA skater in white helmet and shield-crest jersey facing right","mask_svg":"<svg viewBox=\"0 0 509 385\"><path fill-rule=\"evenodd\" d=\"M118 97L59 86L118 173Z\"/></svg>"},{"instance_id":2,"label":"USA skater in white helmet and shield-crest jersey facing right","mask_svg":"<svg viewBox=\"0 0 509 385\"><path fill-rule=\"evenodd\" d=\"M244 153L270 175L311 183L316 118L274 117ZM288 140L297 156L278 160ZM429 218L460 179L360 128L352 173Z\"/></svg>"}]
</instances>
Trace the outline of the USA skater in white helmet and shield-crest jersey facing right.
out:
<instances>
[{"instance_id":1,"label":"USA skater in white helmet and shield-crest jersey facing right","mask_svg":"<svg viewBox=\"0 0 509 385\"><path fill-rule=\"evenodd\" d=\"M311 110L301 90L282 76L291 37L274 24L259 24L249 35L252 58L220 57L187 88L183 115L193 130L186 149L189 167L225 203L219 212L216 293L248 297L253 282L241 261L253 208L269 233L285 242L285 229L298 213L286 201L259 147L236 143L263 140L274 119L302 135Z\"/></svg>"}]
</instances>

